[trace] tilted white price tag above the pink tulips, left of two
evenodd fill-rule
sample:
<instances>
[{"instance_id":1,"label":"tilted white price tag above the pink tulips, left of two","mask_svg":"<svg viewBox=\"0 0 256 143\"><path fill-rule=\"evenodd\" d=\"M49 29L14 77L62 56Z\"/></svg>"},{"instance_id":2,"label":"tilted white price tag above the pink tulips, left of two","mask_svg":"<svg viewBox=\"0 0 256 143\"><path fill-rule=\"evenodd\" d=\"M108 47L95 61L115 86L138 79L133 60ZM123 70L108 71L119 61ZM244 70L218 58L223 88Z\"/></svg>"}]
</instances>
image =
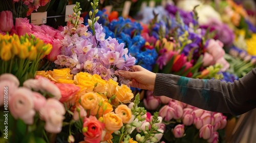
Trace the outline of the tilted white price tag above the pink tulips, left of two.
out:
<instances>
[{"instance_id":1,"label":"tilted white price tag above the pink tulips, left of two","mask_svg":"<svg viewBox=\"0 0 256 143\"><path fill-rule=\"evenodd\" d=\"M46 12L35 12L31 13L31 23L34 25L41 25L47 22L47 11Z\"/></svg>"}]
</instances>

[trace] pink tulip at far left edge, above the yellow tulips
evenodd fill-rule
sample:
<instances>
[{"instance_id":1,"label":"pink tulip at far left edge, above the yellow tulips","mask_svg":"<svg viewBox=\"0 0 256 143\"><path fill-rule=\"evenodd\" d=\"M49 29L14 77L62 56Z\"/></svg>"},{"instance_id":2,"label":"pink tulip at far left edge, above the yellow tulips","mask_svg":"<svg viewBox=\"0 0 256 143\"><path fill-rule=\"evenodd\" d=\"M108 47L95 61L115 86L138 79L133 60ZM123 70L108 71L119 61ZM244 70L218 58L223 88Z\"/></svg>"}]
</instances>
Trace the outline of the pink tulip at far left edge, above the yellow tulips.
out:
<instances>
[{"instance_id":1,"label":"pink tulip at far left edge, above the yellow tulips","mask_svg":"<svg viewBox=\"0 0 256 143\"><path fill-rule=\"evenodd\" d=\"M11 11L2 11L0 13L0 30L2 32L11 32L13 27L13 19Z\"/></svg>"}]
</instances>

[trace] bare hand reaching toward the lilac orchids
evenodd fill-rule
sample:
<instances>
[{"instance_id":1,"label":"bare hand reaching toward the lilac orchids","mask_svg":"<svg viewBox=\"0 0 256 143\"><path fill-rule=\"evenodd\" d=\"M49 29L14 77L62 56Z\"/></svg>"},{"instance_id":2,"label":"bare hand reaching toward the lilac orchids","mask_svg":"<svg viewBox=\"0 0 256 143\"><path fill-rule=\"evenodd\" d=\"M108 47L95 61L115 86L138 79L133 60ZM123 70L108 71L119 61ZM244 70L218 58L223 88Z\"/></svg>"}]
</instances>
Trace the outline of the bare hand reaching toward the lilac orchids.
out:
<instances>
[{"instance_id":1,"label":"bare hand reaching toward the lilac orchids","mask_svg":"<svg viewBox=\"0 0 256 143\"><path fill-rule=\"evenodd\" d=\"M140 89L154 91L156 74L141 67L140 65L131 66L132 71L119 70L118 74L126 79L130 79L129 85Z\"/></svg>"}]
</instances>

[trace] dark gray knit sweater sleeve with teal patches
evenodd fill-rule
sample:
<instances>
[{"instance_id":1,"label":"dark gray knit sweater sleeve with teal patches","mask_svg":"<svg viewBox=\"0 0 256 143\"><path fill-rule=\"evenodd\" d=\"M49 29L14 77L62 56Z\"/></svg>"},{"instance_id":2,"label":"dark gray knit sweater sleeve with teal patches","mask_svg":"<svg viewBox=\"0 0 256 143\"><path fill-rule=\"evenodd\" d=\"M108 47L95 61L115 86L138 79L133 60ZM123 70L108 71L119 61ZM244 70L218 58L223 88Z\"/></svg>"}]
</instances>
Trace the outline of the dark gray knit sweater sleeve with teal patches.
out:
<instances>
[{"instance_id":1,"label":"dark gray knit sweater sleeve with teal patches","mask_svg":"<svg viewBox=\"0 0 256 143\"><path fill-rule=\"evenodd\" d=\"M239 115L256 108L256 68L234 83L157 74L154 95L209 111Z\"/></svg>"}]
</instances>

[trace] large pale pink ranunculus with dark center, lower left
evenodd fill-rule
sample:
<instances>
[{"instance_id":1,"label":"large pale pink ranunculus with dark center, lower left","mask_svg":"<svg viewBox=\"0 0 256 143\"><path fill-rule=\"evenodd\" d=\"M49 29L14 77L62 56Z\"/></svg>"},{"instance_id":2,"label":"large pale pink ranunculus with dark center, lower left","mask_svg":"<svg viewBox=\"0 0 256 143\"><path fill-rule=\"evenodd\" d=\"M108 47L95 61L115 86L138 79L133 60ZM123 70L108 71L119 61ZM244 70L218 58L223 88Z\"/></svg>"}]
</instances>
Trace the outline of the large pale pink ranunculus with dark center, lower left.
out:
<instances>
[{"instance_id":1,"label":"large pale pink ranunculus with dark center, lower left","mask_svg":"<svg viewBox=\"0 0 256 143\"><path fill-rule=\"evenodd\" d=\"M12 116L20 118L26 124L32 125L34 122L35 110L33 103L33 93L31 90L20 87L13 92L12 98L9 101L9 109Z\"/></svg>"}]
</instances>

